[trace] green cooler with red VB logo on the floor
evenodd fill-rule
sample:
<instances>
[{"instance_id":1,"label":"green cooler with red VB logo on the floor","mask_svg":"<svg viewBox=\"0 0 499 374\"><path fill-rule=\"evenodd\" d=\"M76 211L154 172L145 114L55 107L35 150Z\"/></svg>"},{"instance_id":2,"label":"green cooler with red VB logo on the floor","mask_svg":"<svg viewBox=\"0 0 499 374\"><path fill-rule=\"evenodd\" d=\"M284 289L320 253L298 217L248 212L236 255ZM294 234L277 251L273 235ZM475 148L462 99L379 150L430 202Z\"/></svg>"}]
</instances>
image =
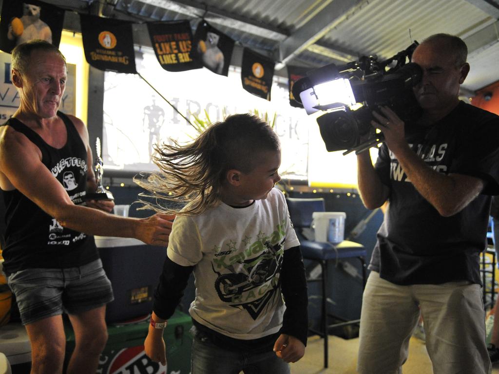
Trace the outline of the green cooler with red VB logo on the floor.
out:
<instances>
[{"instance_id":1,"label":"green cooler with red VB logo on the floor","mask_svg":"<svg viewBox=\"0 0 499 374\"><path fill-rule=\"evenodd\" d=\"M175 311L168 320L163 338L166 344L167 366L155 363L144 352L144 340L149 328L146 321L107 327L109 335L106 347L100 355L99 374L189 374L191 372L192 336L191 317ZM66 362L74 351L74 334L66 326Z\"/></svg>"}]
</instances>

